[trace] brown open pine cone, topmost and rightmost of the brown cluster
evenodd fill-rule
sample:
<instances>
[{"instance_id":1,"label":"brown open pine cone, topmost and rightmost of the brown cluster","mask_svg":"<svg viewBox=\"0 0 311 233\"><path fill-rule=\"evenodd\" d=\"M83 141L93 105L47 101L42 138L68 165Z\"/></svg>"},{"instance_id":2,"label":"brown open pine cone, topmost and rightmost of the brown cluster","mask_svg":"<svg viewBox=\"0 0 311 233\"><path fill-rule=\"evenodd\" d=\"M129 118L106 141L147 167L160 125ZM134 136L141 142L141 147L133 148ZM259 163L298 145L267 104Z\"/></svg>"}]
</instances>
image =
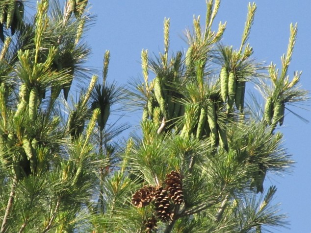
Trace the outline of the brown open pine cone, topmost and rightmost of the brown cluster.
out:
<instances>
[{"instance_id":1,"label":"brown open pine cone, topmost and rightmost of the brown cluster","mask_svg":"<svg viewBox=\"0 0 311 233\"><path fill-rule=\"evenodd\" d=\"M166 175L165 183L165 188L170 193L169 198L174 201L175 205L180 205L183 202L181 174L177 171L171 171Z\"/></svg>"}]
</instances>

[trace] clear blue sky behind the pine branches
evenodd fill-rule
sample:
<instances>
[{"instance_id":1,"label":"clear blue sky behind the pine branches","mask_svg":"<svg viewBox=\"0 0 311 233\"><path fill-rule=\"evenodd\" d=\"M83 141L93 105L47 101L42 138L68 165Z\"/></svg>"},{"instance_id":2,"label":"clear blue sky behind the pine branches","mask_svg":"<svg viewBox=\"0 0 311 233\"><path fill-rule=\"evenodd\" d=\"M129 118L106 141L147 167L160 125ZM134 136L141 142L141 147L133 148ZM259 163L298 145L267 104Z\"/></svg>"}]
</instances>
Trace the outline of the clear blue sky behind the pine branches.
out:
<instances>
[{"instance_id":1,"label":"clear blue sky behind the pine branches","mask_svg":"<svg viewBox=\"0 0 311 233\"><path fill-rule=\"evenodd\" d=\"M102 69L106 49L111 52L109 80L120 84L141 75L140 52L148 49L158 53L163 49L163 20L171 19L171 51L184 50L181 39L185 28L192 27L193 15L205 17L205 0L89 0L90 10L97 15L96 24L87 33L93 54L90 66ZM289 74L303 70L301 84L311 90L311 1L257 0L257 14L250 36L258 61L271 61L280 68L280 57L286 52L289 24L298 23L298 37ZM247 14L247 0L222 0L215 26L227 21L223 43L238 47ZM255 91L255 90L254 90ZM310 109L310 107L307 107ZM310 112L290 108L311 120ZM294 172L284 177L268 175L264 186L276 185L276 202L288 213L290 230L282 233L311 233L311 124L286 112L285 147L296 161ZM126 120L137 124L140 116Z\"/></svg>"}]
</instances>

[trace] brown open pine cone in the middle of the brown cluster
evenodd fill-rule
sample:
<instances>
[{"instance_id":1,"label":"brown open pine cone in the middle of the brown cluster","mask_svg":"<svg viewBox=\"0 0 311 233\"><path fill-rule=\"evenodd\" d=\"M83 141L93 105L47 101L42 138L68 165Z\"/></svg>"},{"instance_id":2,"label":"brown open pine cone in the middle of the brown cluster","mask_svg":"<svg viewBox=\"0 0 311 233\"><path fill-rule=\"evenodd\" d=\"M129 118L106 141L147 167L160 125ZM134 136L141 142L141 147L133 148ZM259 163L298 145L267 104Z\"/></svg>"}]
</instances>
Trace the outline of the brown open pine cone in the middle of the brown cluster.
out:
<instances>
[{"instance_id":1,"label":"brown open pine cone in the middle of the brown cluster","mask_svg":"<svg viewBox=\"0 0 311 233\"><path fill-rule=\"evenodd\" d=\"M156 190L156 212L157 216L163 221L167 222L173 219L173 207L170 204L167 190L163 187L158 187Z\"/></svg>"}]
</instances>

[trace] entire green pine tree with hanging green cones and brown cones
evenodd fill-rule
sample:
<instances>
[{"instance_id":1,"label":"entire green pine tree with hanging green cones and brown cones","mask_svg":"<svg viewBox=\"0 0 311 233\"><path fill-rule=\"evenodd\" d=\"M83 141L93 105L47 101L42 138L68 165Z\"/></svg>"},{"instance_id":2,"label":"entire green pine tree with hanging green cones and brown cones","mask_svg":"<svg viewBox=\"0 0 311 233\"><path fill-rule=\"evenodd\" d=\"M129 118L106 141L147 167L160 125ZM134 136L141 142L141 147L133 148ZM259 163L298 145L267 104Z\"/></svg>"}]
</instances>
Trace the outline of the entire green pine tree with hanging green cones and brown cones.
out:
<instances>
[{"instance_id":1,"label":"entire green pine tree with hanging green cones and brown cones","mask_svg":"<svg viewBox=\"0 0 311 233\"><path fill-rule=\"evenodd\" d=\"M291 104L308 99L301 73L287 74L297 25L279 72L256 62L247 44L256 4L233 49L221 43L226 23L211 29L220 0L208 0L204 25L194 18L186 33L186 52L169 55L165 19L164 52L150 58L142 50L143 83L123 88L107 81L109 51L102 80L84 66L87 0L40 0L29 18L24 6L0 5L0 233L260 233L286 225L271 204L277 188L263 182L293 163L278 125ZM263 107L245 94L250 83ZM128 126L109 116L125 100L142 111L141 133L121 143Z\"/></svg>"}]
</instances>

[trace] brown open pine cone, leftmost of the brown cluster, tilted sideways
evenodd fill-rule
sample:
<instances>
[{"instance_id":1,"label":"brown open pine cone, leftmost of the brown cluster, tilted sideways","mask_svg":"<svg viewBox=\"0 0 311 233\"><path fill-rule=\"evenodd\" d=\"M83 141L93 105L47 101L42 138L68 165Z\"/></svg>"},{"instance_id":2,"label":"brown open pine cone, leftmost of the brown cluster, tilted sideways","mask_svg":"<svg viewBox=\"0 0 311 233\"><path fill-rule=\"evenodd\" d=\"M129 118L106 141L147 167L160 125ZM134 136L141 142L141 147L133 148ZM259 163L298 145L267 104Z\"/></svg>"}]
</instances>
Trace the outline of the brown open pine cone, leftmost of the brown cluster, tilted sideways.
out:
<instances>
[{"instance_id":1,"label":"brown open pine cone, leftmost of the brown cluster, tilted sideways","mask_svg":"<svg viewBox=\"0 0 311 233\"><path fill-rule=\"evenodd\" d=\"M152 200L155 199L155 187L143 186L136 191L132 197L132 204L137 208L147 206Z\"/></svg>"}]
</instances>

